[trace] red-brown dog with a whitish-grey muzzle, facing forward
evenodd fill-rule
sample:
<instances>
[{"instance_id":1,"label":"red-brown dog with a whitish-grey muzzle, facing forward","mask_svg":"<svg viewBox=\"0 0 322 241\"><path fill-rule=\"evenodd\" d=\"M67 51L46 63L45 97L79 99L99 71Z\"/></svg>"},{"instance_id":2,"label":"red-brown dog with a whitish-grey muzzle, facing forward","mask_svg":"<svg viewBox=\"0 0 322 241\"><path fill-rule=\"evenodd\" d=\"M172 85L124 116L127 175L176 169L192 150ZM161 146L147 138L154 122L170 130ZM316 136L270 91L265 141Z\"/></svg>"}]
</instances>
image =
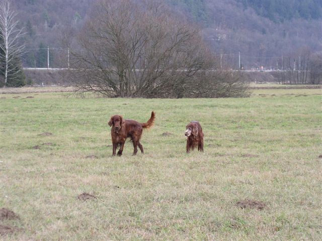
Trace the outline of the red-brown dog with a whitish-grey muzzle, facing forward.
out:
<instances>
[{"instance_id":1,"label":"red-brown dog with a whitish-grey muzzle, facing forward","mask_svg":"<svg viewBox=\"0 0 322 241\"><path fill-rule=\"evenodd\" d=\"M198 146L198 150L203 151L203 132L199 121L191 121L186 126L185 136L187 136L187 153Z\"/></svg>"}]
</instances>

